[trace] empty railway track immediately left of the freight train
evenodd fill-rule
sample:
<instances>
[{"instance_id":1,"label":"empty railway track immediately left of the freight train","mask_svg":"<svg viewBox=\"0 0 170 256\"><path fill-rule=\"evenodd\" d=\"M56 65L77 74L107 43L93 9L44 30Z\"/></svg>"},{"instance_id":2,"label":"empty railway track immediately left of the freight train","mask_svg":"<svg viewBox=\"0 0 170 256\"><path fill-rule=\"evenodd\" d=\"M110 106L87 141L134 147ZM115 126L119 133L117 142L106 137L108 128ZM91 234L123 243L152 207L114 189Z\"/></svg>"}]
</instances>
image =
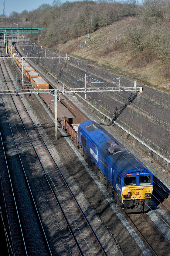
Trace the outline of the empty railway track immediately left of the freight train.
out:
<instances>
[{"instance_id":1,"label":"empty railway track immediately left of the freight train","mask_svg":"<svg viewBox=\"0 0 170 256\"><path fill-rule=\"evenodd\" d=\"M2 72L4 71L2 70ZM9 89L11 89L11 87L9 87ZM43 176L46 177L48 186L50 187L51 193L53 194L53 197L55 198L55 201L57 202L60 208L60 211L62 212L63 218L73 237L74 243L77 246L77 250L79 251L80 255L106 255L99 240L95 236L94 231L90 227L90 224L87 221L87 218L83 214L80 206L77 204L77 201L73 196L71 190L69 189L66 181L63 179L63 176L61 175L60 170L58 169L56 163L54 162L52 156L50 155L46 145L43 143L42 137L40 136L36 127L34 126L28 112L27 112L27 115L29 116L29 119L25 117L25 113L23 113L24 104L22 103L20 97L18 96L14 98L15 99L13 99L13 104L15 105L17 114L20 118L20 121L22 122L22 126L23 126L22 130L24 130L24 132L26 133L29 143L31 144L34 150L36 158L38 159L38 162L41 166ZM18 132L21 132L18 127L16 128ZM27 140L25 139L24 132L22 131L22 135L20 134L23 140L21 140L20 143L19 141L17 141L15 143L16 145L24 143L24 140ZM13 135L13 137L15 136L16 136L16 133L15 135ZM18 152L19 151L22 151L21 147L18 148ZM25 177L26 177L26 180L31 180L30 176L28 177L28 173L26 175L26 172L25 172ZM25 190L27 189L25 188ZM21 190L21 193L23 193L22 190ZM29 221L27 220L26 223L28 225ZM31 230L29 231L31 232ZM43 233L45 234L45 231ZM29 239L29 234L27 236ZM29 247L31 247L31 245L29 245ZM26 252L26 255L27 255L27 252ZM31 253L29 252L28 255L31 255ZM32 253L32 255L38 255L38 254ZM51 251L50 251L50 255L52 255Z\"/></svg>"}]
</instances>

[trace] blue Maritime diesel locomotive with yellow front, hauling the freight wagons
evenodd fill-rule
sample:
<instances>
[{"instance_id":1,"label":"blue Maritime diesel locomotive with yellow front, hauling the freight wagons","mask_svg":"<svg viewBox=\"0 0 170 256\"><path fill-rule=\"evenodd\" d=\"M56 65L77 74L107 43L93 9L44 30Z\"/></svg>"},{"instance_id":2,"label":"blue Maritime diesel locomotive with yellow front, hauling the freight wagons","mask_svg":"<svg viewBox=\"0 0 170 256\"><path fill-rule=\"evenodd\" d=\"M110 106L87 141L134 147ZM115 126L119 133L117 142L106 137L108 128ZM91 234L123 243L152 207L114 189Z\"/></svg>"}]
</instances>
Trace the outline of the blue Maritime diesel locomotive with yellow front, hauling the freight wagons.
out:
<instances>
[{"instance_id":1,"label":"blue Maritime diesel locomotive with yellow front, hauling the freight wagons","mask_svg":"<svg viewBox=\"0 0 170 256\"><path fill-rule=\"evenodd\" d=\"M87 120L78 127L78 147L124 212L149 209L153 175L112 135Z\"/></svg>"}]
</instances>

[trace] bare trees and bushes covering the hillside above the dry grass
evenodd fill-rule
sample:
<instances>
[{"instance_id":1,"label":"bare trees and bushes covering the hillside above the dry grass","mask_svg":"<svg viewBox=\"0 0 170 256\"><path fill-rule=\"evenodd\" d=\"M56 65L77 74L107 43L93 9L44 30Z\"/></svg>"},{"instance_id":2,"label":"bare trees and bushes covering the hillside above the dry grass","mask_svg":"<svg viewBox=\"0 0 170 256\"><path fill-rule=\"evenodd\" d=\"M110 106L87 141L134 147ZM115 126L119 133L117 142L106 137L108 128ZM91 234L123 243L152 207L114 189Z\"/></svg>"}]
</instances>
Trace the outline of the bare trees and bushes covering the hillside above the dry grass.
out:
<instances>
[{"instance_id":1,"label":"bare trees and bushes covering the hillside above the dry grass","mask_svg":"<svg viewBox=\"0 0 170 256\"><path fill-rule=\"evenodd\" d=\"M132 66L142 67L159 59L165 66L164 75L169 76L170 1L143 0L142 4L136 0L108 1L62 3L53 0L52 5L43 4L31 12L12 12L10 18L26 18L29 27L46 28L42 32L41 42L46 47L53 47L92 33L99 27L113 24L124 18L124 15L133 13L135 18L131 26L124 28L124 39L119 41L117 50L131 52Z\"/></svg>"}]
</instances>

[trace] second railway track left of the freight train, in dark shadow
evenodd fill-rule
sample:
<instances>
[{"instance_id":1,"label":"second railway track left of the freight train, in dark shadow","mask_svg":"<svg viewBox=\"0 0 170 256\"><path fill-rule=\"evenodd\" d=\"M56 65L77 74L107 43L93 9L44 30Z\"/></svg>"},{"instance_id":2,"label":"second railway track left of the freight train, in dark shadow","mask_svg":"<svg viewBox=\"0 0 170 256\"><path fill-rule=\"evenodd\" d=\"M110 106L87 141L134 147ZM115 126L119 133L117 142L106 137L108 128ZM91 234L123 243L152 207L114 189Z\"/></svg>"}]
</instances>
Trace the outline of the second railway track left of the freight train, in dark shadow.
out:
<instances>
[{"instance_id":1,"label":"second railway track left of the freight train, in dark shadow","mask_svg":"<svg viewBox=\"0 0 170 256\"><path fill-rule=\"evenodd\" d=\"M4 68L5 66L2 67L2 64L1 64L2 73L5 72ZM6 72L7 72L7 69L6 69ZM4 75L4 79L5 79L5 76L6 74ZM5 79L5 84L7 84L6 79ZM9 81L8 81L8 84L9 84ZM12 145L10 145L11 148L9 148L9 145L4 143L6 142L6 138L9 135L5 136L5 131L3 132L3 135L1 135L2 145L4 148L6 169L8 170L8 175L6 177L4 175L4 183L6 184L5 190L6 190L6 187L8 187L8 184L10 184L10 187L8 188L8 191L6 193L11 194L10 197L8 196L8 198L11 199L11 200L8 199L8 208L10 208L10 210L9 210L9 213L7 213L8 210L6 210L6 214L8 219L9 219L9 215L10 215L10 218L11 216L13 216L14 219L16 219L15 225L14 225L15 220L12 222L12 225L15 226L15 228L12 228L12 230L10 229L10 233L8 233L8 235L12 233L13 236L15 234L15 238L11 235L10 239L7 241L8 247L10 248L10 255L13 255L15 253L17 253L17 255L36 255L38 254L38 251L41 251L42 253L43 251L46 251L47 255L52 255L50 253L49 245L46 240L42 222L36 208L36 204L32 195L32 191L29 186L29 182L26 177L26 172L25 172L23 161L22 161L22 157L21 157L21 154L19 153L21 147L19 149L17 144L20 144L20 143L19 143L19 140L17 139L15 140L14 134L15 134L16 127L14 128L15 125L12 122L12 119L14 117L11 118L9 111L6 110L6 107L8 108L8 106L7 104L4 103L3 97L2 97L2 103L4 106L6 119L8 120L10 131L12 134L12 140L14 141L14 144L12 143ZM18 119L16 113L13 113L13 115L15 116L16 119ZM3 119L5 119L5 117ZM22 143L25 143L24 140L22 141ZM14 154L16 154L16 158L14 162L11 159L12 155L10 154L9 151L12 151ZM17 169L16 167L14 167L14 165L17 166ZM17 172L14 170L17 170ZM22 184L21 187L18 186L19 185L18 180L20 180L19 184L20 185ZM4 198L4 204L5 202L6 201ZM30 225L29 229L27 228L28 223ZM32 232L33 230L34 232ZM16 244L17 244L17 248L16 248ZM37 246L37 244L39 244L39 246Z\"/></svg>"}]
</instances>

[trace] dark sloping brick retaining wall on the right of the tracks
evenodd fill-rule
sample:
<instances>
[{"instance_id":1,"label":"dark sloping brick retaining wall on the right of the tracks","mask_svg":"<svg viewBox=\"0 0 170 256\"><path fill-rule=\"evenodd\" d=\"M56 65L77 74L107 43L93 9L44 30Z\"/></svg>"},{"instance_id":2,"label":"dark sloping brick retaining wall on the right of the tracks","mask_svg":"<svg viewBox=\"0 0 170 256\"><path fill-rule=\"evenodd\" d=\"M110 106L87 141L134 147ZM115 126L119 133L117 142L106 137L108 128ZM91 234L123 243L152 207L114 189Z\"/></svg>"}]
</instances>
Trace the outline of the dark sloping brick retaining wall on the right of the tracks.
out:
<instances>
[{"instance_id":1,"label":"dark sloping brick retaining wall on the right of the tracks","mask_svg":"<svg viewBox=\"0 0 170 256\"><path fill-rule=\"evenodd\" d=\"M27 56L37 56L37 48L27 48ZM50 51L46 50L46 56L52 56ZM41 56L41 55L40 55ZM91 82L96 82L94 79L103 83L91 83L91 87L118 87L118 78L114 74L104 70L95 68L93 63L83 62L74 58L70 60L36 60L46 73L52 74L70 88L85 87L85 75L91 75ZM52 77L51 77L52 78ZM75 83L77 80L82 83ZM87 81L89 79L87 78ZM112 84L113 81L117 83ZM134 81L120 78L121 87L133 87ZM90 85L87 83L87 87ZM144 151L144 154L149 158L156 160L160 165L164 166L170 172L170 164L158 154L154 153L150 148L160 153L163 157L170 159L170 95L157 91L145 85L137 84L143 88L142 93L137 92L87 92L87 99L84 93L80 93L80 101L89 106L94 113L97 110L88 102L100 109L102 113L109 116L106 118L100 114L102 119L105 119L113 129L117 129L124 138L131 141L137 148ZM88 99L90 98L90 99ZM92 100L92 99L95 100ZM97 113L98 114L98 113ZM124 127L128 132L133 133L141 141L147 144L150 148L144 146L140 141L129 135L126 131L117 125L113 125L114 120L120 126Z\"/></svg>"}]
</instances>

